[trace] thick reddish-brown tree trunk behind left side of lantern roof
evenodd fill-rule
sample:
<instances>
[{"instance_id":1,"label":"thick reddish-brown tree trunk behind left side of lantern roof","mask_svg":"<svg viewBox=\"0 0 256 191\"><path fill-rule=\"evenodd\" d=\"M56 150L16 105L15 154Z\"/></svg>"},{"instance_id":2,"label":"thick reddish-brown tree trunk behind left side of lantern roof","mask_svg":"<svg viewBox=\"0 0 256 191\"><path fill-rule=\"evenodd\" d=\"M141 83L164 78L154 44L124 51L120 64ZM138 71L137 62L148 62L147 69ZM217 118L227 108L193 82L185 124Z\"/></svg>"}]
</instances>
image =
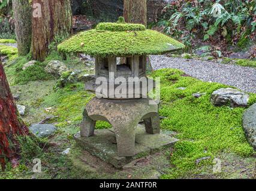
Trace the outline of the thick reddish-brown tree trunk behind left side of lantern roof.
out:
<instances>
[{"instance_id":1,"label":"thick reddish-brown tree trunk behind left side of lantern roof","mask_svg":"<svg viewBox=\"0 0 256 191\"><path fill-rule=\"evenodd\" d=\"M49 45L72 32L70 0L32 0L32 57L44 61Z\"/></svg>"}]
</instances>

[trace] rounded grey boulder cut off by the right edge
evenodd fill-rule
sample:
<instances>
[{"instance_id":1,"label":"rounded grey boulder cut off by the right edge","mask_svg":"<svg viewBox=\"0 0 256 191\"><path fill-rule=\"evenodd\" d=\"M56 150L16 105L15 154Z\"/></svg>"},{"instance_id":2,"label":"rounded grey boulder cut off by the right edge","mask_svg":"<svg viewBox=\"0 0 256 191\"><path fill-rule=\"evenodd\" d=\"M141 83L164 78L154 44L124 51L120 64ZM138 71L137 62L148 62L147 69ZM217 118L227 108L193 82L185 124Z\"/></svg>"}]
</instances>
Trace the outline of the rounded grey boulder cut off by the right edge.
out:
<instances>
[{"instance_id":1,"label":"rounded grey boulder cut off by the right edge","mask_svg":"<svg viewBox=\"0 0 256 191\"><path fill-rule=\"evenodd\" d=\"M248 142L256 150L256 103L243 113L243 129Z\"/></svg>"}]
</instances>

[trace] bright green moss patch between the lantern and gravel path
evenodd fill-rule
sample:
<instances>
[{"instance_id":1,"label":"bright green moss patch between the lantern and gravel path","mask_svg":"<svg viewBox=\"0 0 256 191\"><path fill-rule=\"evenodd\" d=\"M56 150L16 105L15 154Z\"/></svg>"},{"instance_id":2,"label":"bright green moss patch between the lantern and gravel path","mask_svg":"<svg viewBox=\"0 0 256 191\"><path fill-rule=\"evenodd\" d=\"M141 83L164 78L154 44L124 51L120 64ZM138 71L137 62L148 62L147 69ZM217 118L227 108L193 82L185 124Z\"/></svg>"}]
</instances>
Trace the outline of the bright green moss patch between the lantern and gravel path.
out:
<instances>
[{"instance_id":1,"label":"bright green moss patch between the lantern and gravel path","mask_svg":"<svg viewBox=\"0 0 256 191\"><path fill-rule=\"evenodd\" d=\"M202 82L191 77L183 77L180 70L164 69L153 73L161 77L161 100L159 110L162 129L176 131L180 139L174 147L170 162L174 168L162 178L179 178L198 165L211 165L216 154L227 151L240 156L250 156L254 150L246 141L242 129L244 108L215 107L210 103L210 95L226 85ZM186 90L177 90L186 87ZM206 93L195 98L194 93ZM251 94L250 104L256 102L256 94ZM197 159L210 157L196 164Z\"/></svg>"}]
</instances>

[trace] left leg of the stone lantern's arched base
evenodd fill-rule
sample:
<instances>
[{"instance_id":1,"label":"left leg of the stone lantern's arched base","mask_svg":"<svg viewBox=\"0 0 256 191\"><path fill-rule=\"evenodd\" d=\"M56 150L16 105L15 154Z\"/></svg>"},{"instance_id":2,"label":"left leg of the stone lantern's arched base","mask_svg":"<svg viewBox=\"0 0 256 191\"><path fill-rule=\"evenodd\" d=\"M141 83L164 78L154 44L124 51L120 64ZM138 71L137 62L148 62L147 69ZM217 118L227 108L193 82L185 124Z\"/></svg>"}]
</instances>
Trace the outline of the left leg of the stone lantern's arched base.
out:
<instances>
[{"instance_id":1,"label":"left leg of the stone lantern's arched base","mask_svg":"<svg viewBox=\"0 0 256 191\"><path fill-rule=\"evenodd\" d=\"M96 121L92 120L88 116L88 112L85 109L83 112L83 121L81 124L81 137L91 137L94 135L94 129L95 129Z\"/></svg>"}]
</instances>

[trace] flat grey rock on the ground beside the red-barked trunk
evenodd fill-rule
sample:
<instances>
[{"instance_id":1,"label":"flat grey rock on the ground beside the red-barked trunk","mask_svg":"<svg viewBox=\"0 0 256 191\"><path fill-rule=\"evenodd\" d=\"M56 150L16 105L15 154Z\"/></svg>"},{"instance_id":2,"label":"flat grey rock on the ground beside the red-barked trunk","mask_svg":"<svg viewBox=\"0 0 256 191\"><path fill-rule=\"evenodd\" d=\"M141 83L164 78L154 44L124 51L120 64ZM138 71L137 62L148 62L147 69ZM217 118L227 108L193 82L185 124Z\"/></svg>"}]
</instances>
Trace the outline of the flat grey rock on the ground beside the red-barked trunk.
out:
<instances>
[{"instance_id":1,"label":"flat grey rock on the ground beside the red-barked trunk","mask_svg":"<svg viewBox=\"0 0 256 191\"><path fill-rule=\"evenodd\" d=\"M50 124L35 124L31 125L31 127L29 127L29 130L37 137L42 138L49 137L50 135L55 133L57 128L54 125Z\"/></svg>"}]
</instances>

